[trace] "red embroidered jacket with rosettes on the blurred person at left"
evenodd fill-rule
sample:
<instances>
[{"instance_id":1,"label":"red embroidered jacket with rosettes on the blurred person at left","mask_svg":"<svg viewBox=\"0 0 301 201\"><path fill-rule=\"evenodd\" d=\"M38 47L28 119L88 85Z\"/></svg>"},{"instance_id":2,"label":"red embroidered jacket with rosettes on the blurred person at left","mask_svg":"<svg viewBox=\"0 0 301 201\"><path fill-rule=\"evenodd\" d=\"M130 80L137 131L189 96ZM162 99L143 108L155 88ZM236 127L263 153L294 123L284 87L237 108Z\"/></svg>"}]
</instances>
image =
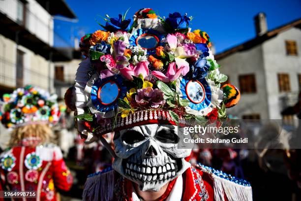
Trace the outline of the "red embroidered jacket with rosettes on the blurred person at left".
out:
<instances>
[{"instance_id":1,"label":"red embroidered jacket with rosettes on the blurred person at left","mask_svg":"<svg viewBox=\"0 0 301 201\"><path fill-rule=\"evenodd\" d=\"M26 142L26 140L24 140ZM0 190L36 191L37 201L56 201L56 190L68 191L72 176L54 144L21 144L1 154Z\"/></svg>"}]
</instances>

